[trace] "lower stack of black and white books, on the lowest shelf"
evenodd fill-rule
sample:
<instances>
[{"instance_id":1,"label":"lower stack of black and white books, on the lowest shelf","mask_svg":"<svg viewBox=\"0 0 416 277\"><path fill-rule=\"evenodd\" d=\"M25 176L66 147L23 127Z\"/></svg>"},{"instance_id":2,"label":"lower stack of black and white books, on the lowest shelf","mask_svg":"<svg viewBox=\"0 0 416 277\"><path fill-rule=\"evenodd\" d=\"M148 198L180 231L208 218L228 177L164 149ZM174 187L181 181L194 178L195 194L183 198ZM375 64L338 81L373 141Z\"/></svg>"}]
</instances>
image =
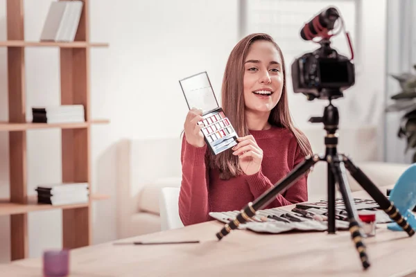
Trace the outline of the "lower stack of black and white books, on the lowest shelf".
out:
<instances>
[{"instance_id":1,"label":"lower stack of black and white books, on the lowest shelf","mask_svg":"<svg viewBox=\"0 0 416 277\"><path fill-rule=\"evenodd\" d=\"M88 202L87 183L65 183L37 186L37 203L69 205Z\"/></svg>"}]
</instances>

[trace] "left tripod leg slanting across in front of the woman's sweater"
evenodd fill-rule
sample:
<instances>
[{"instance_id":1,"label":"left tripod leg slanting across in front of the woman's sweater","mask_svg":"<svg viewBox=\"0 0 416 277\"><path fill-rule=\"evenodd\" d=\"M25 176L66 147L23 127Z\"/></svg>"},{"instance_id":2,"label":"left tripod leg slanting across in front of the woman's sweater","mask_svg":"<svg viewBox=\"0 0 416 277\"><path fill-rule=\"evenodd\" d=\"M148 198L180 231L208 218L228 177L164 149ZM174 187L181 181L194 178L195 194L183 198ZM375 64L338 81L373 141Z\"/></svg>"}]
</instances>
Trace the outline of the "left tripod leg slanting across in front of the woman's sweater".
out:
<instances>
[{"instance_id":1,"label":"left tripod leg slanting across in front of the woman's sweater","mask_svg":"<svg viewBox=\"0 0 416 277\"><path fill-rule=\"evenodd\" d=\"M285 188L290 187L297 179L302 177L315 163L320 161L321 158L318 155L313 155L313 157L306 157L302 163L300 163L296 168L286 175L283 179L278 181L275 186L269 188L262 195L257 197L254 202L250 202L245 206L241 212L236 216L235 220L232 220L224 225L223 229L216 233L218 240L221 240L228 235L231 230L237 229L240 224L248 222L251 217L253 217L257 211L264 206L267 206L272 199L284 190Z\"/></svg>"}]
</instances>

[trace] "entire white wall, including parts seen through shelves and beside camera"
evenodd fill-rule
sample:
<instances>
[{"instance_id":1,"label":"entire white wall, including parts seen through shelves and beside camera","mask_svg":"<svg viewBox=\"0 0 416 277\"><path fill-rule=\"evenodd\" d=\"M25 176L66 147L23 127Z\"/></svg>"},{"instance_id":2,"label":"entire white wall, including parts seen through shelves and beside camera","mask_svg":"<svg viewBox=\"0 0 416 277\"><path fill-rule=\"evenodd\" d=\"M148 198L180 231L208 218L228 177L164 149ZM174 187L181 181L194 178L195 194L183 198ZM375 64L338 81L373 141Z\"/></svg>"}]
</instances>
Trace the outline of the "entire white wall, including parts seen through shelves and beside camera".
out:
<instances>
[{"instance_id":1,"label":"entire white wall, including parts seen through shelves and beside camera","mask_svg":"<svg viewBox=\"0 0 416 277\"><path fill-rule=\"evenodd\" d=\"M49 0L25 1L26 39L37 40ZM385 1L363 5L363 68L356 87L346 93L343 122L378 123L384 88ZM5 5L5 0L0 0ZM91 40L110 48L92 50L92 116L109 118L110 125L92 129L94 190L115 193L115 145L123 138L179 136L187 105L178 80L207 70L216 91L229 52L239 39L239 1L114 1L91 0ZM315 11L312 11L315 13ZM368 16L370 13L371 16ZM0 9L0 39L6 39L5 12ZM370 39L370 35L372 38ZM58 105L59 64L55 48L28 48L26 56L27 111L32 105ZM374 62L375 64L372 64ZM6 50L0 49L0 120L7 120ZM376 105L369 99L376 98ZM364 99L364 100L363 100ZM291 96L298 125L322 114L323 102ZM338 105L338 103L337 103ZM346 110L352 111L347 115ZM373 117L374 116L374 117ZM28 192L37 184L60 181L60 132L28 132ZM7 133L0 133L0 156L8 157ZM0 160L0 197L8 197L8 163ZM115 197L94 205L94 243L116 238ZM60 212L29 215L30 256L44 247L60 247ZM0 262L8 260L8 217L0 217Z\"/></svg>"}]
</instances>

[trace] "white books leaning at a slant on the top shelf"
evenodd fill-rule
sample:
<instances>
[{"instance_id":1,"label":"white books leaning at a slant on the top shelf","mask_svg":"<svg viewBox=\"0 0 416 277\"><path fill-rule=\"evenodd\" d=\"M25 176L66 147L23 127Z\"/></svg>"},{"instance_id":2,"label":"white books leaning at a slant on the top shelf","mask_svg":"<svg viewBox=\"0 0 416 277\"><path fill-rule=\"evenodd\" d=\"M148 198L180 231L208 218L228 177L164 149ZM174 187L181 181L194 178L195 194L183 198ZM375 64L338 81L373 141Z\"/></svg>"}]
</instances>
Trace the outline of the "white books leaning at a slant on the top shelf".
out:
<instances>
[{"instance_id":1,"label":"white books leaning at a slant on the top shelf","mask_svg":"<svg viewBox=\"0 0 416 277\"><path fill-rule=\"evenodd\" d=\"M44 21L41 42L73 42L83 12L83 1L53 1Z\"/></svg>"}]
</instances>

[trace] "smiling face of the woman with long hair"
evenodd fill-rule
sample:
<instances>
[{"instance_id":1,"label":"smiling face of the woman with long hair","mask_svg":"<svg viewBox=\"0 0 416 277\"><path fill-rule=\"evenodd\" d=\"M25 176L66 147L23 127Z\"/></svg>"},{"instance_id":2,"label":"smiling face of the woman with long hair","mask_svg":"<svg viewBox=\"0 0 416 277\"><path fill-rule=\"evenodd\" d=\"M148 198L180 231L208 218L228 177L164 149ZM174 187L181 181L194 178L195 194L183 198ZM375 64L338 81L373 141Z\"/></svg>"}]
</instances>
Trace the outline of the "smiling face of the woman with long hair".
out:
<instances>
[{"instance_id":1,"label":"smiling face of the woman with long hair","mask_svg":"<svg viewBox=\"0 0 416 277\"><path fill-rule=\"evenodd\" d=\"M244 102L246 111L270 113L283 88L283 68L272 42L259 40L250 46L244 64Z\"/></svg>"}]
</instances>

